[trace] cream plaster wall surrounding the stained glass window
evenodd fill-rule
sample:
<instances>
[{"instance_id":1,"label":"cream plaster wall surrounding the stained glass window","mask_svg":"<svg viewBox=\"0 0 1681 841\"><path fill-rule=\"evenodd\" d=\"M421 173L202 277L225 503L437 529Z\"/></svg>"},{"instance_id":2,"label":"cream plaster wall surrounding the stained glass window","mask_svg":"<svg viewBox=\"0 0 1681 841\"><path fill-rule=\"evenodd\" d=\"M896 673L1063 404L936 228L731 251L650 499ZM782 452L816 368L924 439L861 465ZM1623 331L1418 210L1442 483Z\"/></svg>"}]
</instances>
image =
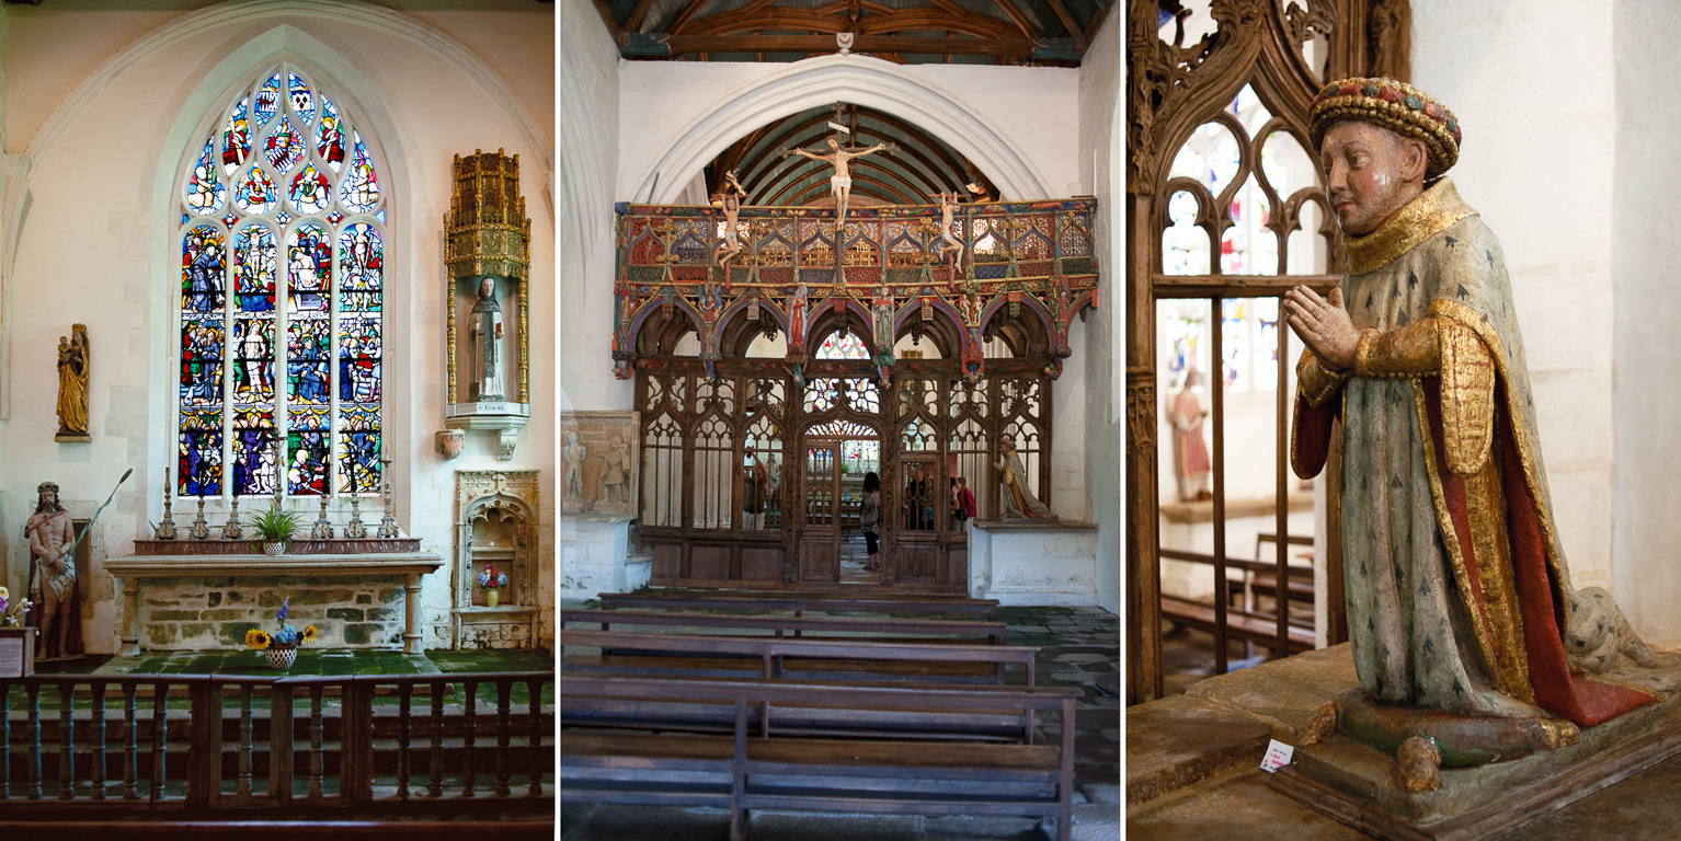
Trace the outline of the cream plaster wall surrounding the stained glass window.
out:
<instances>
[{"instance_id":1,"label":"cream plaster wall surrounding the stained glass window","mask_svg":"<svg viewBox=\"0 0 1681 841\"><path fill-rule=\"evenodd\" d=\"M163 467L173 463L175 289L178 257L170 208L187 149L202 143L208 109L237 84L287 57L316 72L346 109L363 116L382 153L388 200L387 452L397 460L397 517L425 551L452 554L456 470L543 470L543 557L538 579L553 603L553 394L555 265L550 161L553 123L524 102L553 99L553 15L513 2L491 7L509 32L461 24L462 39L370 3L286 0L148 3L134 15L47 7L7 7L7 149L29 154L27 213L3 220L17 237L5 277L8 359L0 383L13 405L0 428L7 488L3 522L22 524L40 480L59 482L71 505L96 505L128 467L92 541L96 618L89 651L114 648L111 577L104 556L126 554L161 517ZM393 3L435 7L435 3ZM439 15L445 25L461 22ZM160 49L153 27L173 27ZM496 62L484 55L501 52ZM511 76L498 72L506 67ZM551 106L536 109L551 114ZM519 154L521 190L533 220L531 383L543 406L526 426L513 462L498 462L487 436L442 462L432 433L444 420L442 215L457 153L506 148ZM17 185L13 185L17 186ZM54 349L71 322L86 322L92 344L87 445L55 445ZM313 509L311 509L313 510ZM183 510L177 509L180 519ZM190 512L185 512L190 517ZM366 515L368 512L365 512ZM247 510L249 517L249 510ZM378 514L372 517L375 522ZM220 522L220 515L212 517ZM0 534L12 581L27 569L17 529ZM449 582L427 576L422 594L427 645L442 645ZM553 618L546 616L550 635Z\"/></svg>"}]
</instances>

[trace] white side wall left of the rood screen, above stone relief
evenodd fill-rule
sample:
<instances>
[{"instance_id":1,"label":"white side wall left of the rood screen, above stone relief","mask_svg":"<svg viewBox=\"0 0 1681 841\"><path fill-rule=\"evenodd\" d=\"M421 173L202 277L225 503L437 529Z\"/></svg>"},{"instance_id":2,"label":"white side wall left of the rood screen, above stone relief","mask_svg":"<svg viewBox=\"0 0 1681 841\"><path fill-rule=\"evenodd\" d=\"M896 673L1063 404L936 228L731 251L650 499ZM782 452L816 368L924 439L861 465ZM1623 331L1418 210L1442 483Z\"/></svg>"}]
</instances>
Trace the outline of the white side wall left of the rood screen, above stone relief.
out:
<instances>
[{"instance_id":1,"label":"white side wall left of the rood screen, above stone relief","mask_svg":"<svg viewBox=\"0 0 1681 841\"><path fill-rule=\"evenodd\" d=\"M619 47L590 3L560 3L560 408L627 411L614 378L614 200L619 181ZM684 64L698 67L698 64ZM721 65L719 65L721 67ZM640 128L637 129L640 131Z\"/></svg>"}]
</instances>

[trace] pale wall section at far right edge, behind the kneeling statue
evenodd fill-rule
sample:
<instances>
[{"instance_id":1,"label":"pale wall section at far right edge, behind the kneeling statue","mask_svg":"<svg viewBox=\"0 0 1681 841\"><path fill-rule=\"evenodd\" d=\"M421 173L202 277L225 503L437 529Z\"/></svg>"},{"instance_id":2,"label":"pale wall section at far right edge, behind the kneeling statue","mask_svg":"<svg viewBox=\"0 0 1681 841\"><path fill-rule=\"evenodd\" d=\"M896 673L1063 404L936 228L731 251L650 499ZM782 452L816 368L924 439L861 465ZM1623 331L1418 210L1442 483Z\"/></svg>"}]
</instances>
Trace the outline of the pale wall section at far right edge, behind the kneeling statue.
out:
<instances>
[{"instance_id":1,"label":"pale wall section at far right edge, behind the kneeling statue","mask_svg":"<svg viewBox=\"0 0 1681 841\"><path fill-rule=\"evenodd\" d=\"M1610 212L1615 253L1615 537L1612 593L1652 645L1681 646L1681 322L1674 255L1681 250L1681 107L1661 92L1681 79L1681 5L1617 0L1617 159Z\"/></svg>"}]
</instances>

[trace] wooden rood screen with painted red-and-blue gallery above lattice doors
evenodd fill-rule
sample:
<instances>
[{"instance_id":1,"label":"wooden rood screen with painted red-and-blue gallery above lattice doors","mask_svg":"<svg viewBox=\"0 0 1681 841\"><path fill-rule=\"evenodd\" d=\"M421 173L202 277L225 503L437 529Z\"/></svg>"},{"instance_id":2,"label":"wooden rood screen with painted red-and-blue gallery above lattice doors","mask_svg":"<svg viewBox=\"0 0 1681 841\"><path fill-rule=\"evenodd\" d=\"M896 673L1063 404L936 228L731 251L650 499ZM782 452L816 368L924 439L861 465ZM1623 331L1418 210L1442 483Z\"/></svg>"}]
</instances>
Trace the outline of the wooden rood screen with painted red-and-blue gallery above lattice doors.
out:
<instances>
[{"instance_id":1,"label":"wooden rood screen with painted red-and-blue gallery above lattice doors","mask_svg":"<svg viewBox=\"0 0 1681 841\"><path fill-rule=\"evenodd\" d=\"M962 593L963 477L1000 510L1010 441L1051 502L1051 386L1098 302L1089 198L830 210L619 206L614 359L642 418L656 584L822 586L881 478L881 584ZM951 248L951 243L956 248Z\"/></svg>"}]
</instances>

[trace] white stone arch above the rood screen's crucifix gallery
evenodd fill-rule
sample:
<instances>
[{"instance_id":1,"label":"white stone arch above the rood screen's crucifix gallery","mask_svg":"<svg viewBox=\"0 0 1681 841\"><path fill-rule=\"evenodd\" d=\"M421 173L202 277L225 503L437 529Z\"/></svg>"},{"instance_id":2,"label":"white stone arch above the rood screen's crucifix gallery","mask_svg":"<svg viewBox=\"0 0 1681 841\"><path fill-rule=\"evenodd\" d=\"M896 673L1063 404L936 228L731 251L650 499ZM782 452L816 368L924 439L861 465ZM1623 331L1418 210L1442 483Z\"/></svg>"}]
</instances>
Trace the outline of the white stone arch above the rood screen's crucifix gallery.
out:
<instances>
[{"instance_id":1,"label":"white stone arch above the rood screen's crucifix gallery","mask_svg":"<svg viewBox=\"0 0 1681 841\"><path fill-rule=\"evenodd\" d=\"M634 181L627 181L629 198L677 203L694 175L741 136L835 101L874 107L926 128L987 173L1005 200L1059 193L1002 126L956 94L893 62L825 55L778 67L699 109L699 116L672 133Z\"/></svg>"}]
</instances>

